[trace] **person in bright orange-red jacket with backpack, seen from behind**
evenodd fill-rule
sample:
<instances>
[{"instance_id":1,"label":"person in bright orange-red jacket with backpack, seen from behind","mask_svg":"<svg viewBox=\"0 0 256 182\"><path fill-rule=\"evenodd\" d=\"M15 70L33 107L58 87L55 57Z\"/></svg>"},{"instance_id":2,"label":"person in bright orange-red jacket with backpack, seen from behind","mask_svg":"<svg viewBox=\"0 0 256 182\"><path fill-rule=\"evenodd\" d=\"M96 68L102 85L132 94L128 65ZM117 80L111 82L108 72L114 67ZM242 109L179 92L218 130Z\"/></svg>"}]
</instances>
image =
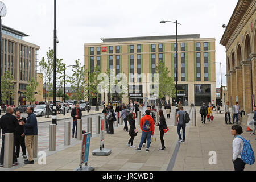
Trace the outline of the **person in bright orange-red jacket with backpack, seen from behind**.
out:
<instances>
[{"instance_id":1,"label":"person in bright orange-red jacket with backpack, seen from behind","mask_svg":"<svg viewBox=\"0 0 256 182\"><path fill-rule=\"evenodd\" d=\"M150 110L146 110L146 115L143 118L141 118L141 130L141 142L139 143L139 147L135 151L141 151L144 139L147 138L146 152L149 152L151 136L154 135L155 131L155 123L152 117L150 116Z\"/></svg>"}]
</instances>

